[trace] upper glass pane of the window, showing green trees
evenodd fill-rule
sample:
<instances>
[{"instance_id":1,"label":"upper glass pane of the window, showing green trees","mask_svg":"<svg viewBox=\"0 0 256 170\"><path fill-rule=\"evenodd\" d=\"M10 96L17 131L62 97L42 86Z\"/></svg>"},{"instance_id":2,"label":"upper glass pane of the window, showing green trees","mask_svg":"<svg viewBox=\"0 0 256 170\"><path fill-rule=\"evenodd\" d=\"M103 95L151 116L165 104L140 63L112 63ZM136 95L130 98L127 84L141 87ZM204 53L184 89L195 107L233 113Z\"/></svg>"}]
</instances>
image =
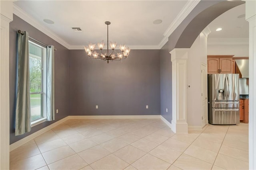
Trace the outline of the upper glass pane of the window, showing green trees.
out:
<instances>
[{"instance_id":1,"label":"upper glass pane of the window, showing green trees","mask_svg":"<svg viewBox=\"0 0 256 170\"><path fill-rule=\"evenodd\" d=\"M42 59L29 57L30 92L42 92Z\"/></svg>"}]
</instances>

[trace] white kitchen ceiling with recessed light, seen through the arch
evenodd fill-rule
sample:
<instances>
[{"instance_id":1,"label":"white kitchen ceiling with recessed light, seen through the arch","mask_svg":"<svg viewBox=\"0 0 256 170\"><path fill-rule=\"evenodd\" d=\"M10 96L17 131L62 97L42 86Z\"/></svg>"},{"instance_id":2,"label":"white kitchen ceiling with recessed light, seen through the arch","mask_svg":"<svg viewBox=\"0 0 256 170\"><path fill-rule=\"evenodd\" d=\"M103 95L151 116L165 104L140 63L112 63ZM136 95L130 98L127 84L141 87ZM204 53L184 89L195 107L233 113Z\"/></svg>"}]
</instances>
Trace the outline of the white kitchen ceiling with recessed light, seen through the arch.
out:
<instances>
[{"instance_id":1,"label":"white kitchen ceiling with recessed light, seen through the arch","mask_svg":"<svg viewBox=\"0 0 256 170\"><path fill-rule=\"evenodd\" d=\"M208 25L211 30L208 39L248 39L249 22L245 17L238 18L242 14L245 14L245 4L236 6L213 20ZM222 30L216 31L219 27Z\"/></svg>"}]
</instances>

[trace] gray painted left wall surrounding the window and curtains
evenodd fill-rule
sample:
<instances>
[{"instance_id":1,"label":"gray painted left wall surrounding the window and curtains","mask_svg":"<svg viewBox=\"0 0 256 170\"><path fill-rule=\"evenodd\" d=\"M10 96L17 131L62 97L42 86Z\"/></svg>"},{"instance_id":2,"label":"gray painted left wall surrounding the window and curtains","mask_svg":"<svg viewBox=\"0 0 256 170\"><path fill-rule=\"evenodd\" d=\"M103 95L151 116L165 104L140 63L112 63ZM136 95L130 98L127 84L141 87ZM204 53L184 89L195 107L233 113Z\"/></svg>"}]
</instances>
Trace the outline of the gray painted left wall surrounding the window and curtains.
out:
<instances>
[{"instance_id":1,"label":"gray painted left wall surrounding the window and curtains","mask_svg":"<svg viewBox=\"0 0 256 170\"><path fill-rule=\"evenodd\" d=\"M54 45L55 51L55 107L59 109L59 113L55 116L55 121L41 123L29 133L15 136L15 78L16 78L16 31L28 31L28 35L45 44ZM10 23L10 144L66 117L69 115L69 57L68 49L33 27L24 20L13 16L13 21Z\"/></svg>"}]
</instances>

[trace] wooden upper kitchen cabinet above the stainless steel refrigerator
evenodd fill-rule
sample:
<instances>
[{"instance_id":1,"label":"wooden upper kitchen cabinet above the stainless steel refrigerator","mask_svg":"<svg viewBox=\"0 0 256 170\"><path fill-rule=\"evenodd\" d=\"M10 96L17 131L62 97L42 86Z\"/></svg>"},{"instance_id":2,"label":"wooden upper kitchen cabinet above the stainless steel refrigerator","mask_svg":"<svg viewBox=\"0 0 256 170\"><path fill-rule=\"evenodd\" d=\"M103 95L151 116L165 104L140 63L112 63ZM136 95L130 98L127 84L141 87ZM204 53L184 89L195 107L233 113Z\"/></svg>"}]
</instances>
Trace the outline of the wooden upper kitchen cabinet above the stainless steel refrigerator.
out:
<instances>
[{"instance_id":1,"label":"wooden upper kitchen cabinet above the stainless steel refrigerator","mask_svg":"<svg viewBox=\"0 0 256 170\"><path fill-rule=\"evenodd\" d=\"M208 55L208 74L228 74L234 73L234 55Z\"/></svg>"}]
</instances>

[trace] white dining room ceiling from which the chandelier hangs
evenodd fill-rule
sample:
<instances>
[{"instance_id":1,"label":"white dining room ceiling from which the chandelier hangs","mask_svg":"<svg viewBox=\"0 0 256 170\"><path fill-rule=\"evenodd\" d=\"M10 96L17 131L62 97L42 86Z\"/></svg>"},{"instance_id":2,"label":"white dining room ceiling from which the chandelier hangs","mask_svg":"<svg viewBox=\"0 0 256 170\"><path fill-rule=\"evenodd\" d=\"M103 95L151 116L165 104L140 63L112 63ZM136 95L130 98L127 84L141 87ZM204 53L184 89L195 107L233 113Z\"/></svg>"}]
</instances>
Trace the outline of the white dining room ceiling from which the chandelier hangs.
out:
<instances>
[{"instance_id":1,"label":"white dining room ceiling from which the chandelier hangs","mask_svg":"<svg viewBox=\"0 0 256 170\"><path fill-rule=\"evenodd\" d=\"M106 43L105 21L111 22L110 41L131 46L158 46L187 2L22 0L14 4L71 46L86 45L89 41L97 43L103 39ZM44 19L50 19L54 24L45 23ZM158 19L162 23L153 24ZM72 27L80 27L82 32L74 32Z\"/></svg>"}]
</instances>

